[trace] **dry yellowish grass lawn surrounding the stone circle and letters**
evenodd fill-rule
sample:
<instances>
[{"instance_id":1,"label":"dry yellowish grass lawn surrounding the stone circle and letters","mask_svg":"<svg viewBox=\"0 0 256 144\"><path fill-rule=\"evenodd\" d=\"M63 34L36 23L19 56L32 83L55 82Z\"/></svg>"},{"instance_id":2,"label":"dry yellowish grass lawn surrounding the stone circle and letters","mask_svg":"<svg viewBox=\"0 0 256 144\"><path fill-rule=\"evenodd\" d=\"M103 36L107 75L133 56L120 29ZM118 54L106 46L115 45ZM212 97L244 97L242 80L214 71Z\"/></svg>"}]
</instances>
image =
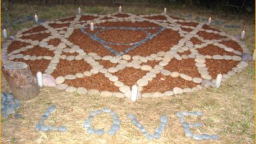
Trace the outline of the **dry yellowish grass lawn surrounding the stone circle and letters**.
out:
<instances>
[{"instance_id":1,"label":"dry yellowish grass lawn surrounding the stone circle and letters","mask_svg":"<svg viewBox=\"0 0 256 144\"><path fill-rule=\"evenodd\" d=\"M165 4L165 5L164 5ZM242 15L223 17L216 10L204 10L182 4L164 3L170 15L184 19L195 20L196 17L212 21L218 19L223 24L213 24L212 27L221 29L228 35L241 35L246 30L244 44L250 54L255 49L255 16ZM81 6L82 13L114 13L118 6L83 6L74 4L48 4L39 6L36 3L10 4L10 10L1 10L1 28L6 28L8 35L15 35L17 31L30 28L35 24L33 15L39 19L50 21L76 15ZM161 13L164 7L159 6L122 6L124 13L150 14ZM27 20L25 20L27 18ZM29 20L29 18L31 18ZM240 26L227 28L225 26ZM1 43L4 39L1 38ZM10 92L10 88L1 75L1 91ZM17 111L22 118L16 120L14 116L1 118L1 143L255 143L255 62L250 61L248 67L221 83L221 87L204 88L198 92L184 93L172 97L144 98L136 102L116 97L99 97L99 95L81 95L67 93L55 88L42 88L35 99L22 101ZM35 131L35 125L41 115L52 104L56 105L56 112L45 121L46 125L65 125L67 132ZM83 123L90 115L89 111L110 108L118 114L121 129L114 136L104 134L88 134L83 129ZM197 141L188 138L176 116L180 111L202 111L203 116L186 116L189 123L201 122L203 127L195 127L195 134L216 134L219 140ZM133 113L138 121L153 134L159 126L161 115L166 114L168 123L159 140L148 140L135 127L128 114ZM102 114L93 118L95 129L107 131L111 127L111 117Z\"/></svg>"}]
</instances>

